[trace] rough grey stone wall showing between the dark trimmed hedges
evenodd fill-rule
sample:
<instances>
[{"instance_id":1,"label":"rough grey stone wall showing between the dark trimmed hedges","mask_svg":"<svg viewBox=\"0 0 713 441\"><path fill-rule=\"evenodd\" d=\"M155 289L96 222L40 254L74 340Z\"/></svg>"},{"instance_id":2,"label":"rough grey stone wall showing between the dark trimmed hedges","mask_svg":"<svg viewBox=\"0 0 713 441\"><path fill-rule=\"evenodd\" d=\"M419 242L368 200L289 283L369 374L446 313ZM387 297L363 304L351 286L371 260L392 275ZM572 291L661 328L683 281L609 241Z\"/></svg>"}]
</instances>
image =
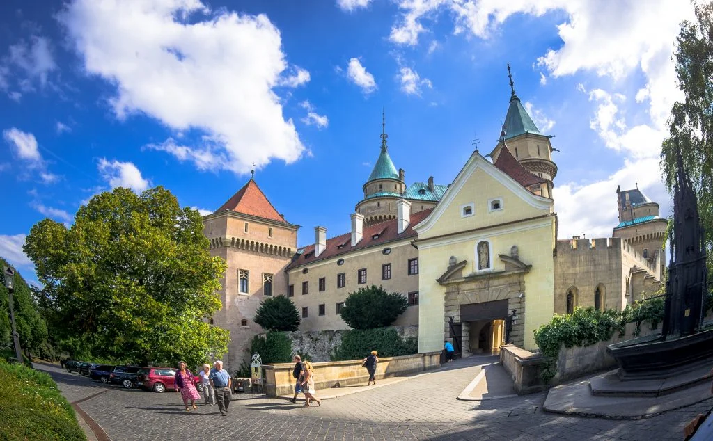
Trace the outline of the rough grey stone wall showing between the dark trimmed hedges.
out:
<instances>
[{"instance_id":1,"label":"rough grey stone wall showing between the dark trimmed hedges","mask_svg":"<svg viewBox=\"0 0 713 441\"><path fill-rule=\"evenodd\" d=\"M401 338L419 338L419 326L394 326ZM292 352L309 355L315 362L332 360L329 355L342 344L342 336L347 330L337 331L294 331L287 336L292 340ZM379 351L379 348L374 348ZM369 354L364 354L366 357Z\"/></svg>"}]
</instances>

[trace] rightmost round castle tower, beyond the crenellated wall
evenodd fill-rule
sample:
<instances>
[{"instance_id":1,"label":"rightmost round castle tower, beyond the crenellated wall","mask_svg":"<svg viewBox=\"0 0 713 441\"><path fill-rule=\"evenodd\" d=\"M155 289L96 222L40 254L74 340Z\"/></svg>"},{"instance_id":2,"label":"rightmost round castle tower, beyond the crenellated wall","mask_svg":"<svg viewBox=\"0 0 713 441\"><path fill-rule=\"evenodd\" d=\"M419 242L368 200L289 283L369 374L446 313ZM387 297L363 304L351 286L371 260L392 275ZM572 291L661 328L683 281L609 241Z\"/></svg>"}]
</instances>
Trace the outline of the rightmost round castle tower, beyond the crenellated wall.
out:
<instances>
[{"instance_id":1,"label":"rightmost round castle tower, beyond the crenellated wall","mask_svg":"<svg viewBox=\"0 0 713 441\"><path fill-rule=\"evenodd\" d=\"M666 239L668 222L659 216L659 204L652 202L637 185L635 190L617 187L619 224L612 237L621 237L654 266L658 279L662 279L666 265L662 245Z\"/></svg>"}]
</instances>

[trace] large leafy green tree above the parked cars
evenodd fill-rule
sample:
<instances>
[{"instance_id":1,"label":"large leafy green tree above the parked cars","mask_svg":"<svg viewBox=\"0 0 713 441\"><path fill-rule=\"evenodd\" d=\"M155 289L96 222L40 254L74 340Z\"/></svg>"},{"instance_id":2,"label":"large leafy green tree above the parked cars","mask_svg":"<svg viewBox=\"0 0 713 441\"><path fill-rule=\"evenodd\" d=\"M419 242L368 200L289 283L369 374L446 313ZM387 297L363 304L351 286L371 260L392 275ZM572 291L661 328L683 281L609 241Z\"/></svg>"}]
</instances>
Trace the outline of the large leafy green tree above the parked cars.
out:
<instances>
[{"instance_id":1,"label":"large leafy green tree above the parked cars","mask_svg":"<svg viewBox=\"0 0 713 441\"><path fill-rule=\"evenodd\" d=\"M24 251L73 353L134 363L200 363L227 351L220 309L225 262L211 257L200 214L163 187L96 195L74 223L44 219Z\"/></svg>"}]
</instances>

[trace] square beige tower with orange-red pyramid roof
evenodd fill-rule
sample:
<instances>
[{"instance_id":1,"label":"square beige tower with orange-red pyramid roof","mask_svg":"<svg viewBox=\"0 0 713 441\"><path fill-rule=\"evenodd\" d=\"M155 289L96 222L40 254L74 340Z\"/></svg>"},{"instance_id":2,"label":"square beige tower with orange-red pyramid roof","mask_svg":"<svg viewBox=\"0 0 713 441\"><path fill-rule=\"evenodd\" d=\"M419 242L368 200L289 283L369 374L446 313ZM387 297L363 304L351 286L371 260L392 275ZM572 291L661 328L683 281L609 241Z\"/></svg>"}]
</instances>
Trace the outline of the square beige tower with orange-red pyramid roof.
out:
<instances>
[{"instance_id":1,"label":"square beige tower with orange-red pyramid roof","mask_svg":"<svg viewBox=\"0 0 713 441\"><path fill-rule=\"evenodd\" d=\"M284 269L297 249L297 229L299 225L287 222L253 179L203 217L210 255L227 263L219 292L222 308L212 321L230 331L223 360L231 371L245 360L245 345L262 332L253 321L262 299L288 294Z\"/></svg>"}]
</instances>

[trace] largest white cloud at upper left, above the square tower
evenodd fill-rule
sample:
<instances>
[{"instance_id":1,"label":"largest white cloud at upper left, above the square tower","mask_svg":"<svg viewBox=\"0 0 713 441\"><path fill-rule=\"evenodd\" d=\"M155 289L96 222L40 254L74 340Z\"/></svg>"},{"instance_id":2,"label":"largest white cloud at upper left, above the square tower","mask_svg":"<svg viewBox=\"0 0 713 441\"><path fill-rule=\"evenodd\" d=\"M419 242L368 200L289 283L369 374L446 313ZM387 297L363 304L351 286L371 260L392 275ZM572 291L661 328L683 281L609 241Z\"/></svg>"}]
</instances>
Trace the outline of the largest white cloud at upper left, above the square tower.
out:
<instances>
[{"instance_id":1,"label":"largest white cloud at upper left, above the square tower","mask_svg":"<svg viewBox=\"0 0 713 441\"><path fill-rule=\"evenodd\" d=\"M200 130L234 172L305 151L273 89L304 83L306 71L282 76L280 33L264 14L210 11L199 0L73 0L58 17L86 73L116 86L119 119L145 114Z\"/></svg>"}]
</instances>

